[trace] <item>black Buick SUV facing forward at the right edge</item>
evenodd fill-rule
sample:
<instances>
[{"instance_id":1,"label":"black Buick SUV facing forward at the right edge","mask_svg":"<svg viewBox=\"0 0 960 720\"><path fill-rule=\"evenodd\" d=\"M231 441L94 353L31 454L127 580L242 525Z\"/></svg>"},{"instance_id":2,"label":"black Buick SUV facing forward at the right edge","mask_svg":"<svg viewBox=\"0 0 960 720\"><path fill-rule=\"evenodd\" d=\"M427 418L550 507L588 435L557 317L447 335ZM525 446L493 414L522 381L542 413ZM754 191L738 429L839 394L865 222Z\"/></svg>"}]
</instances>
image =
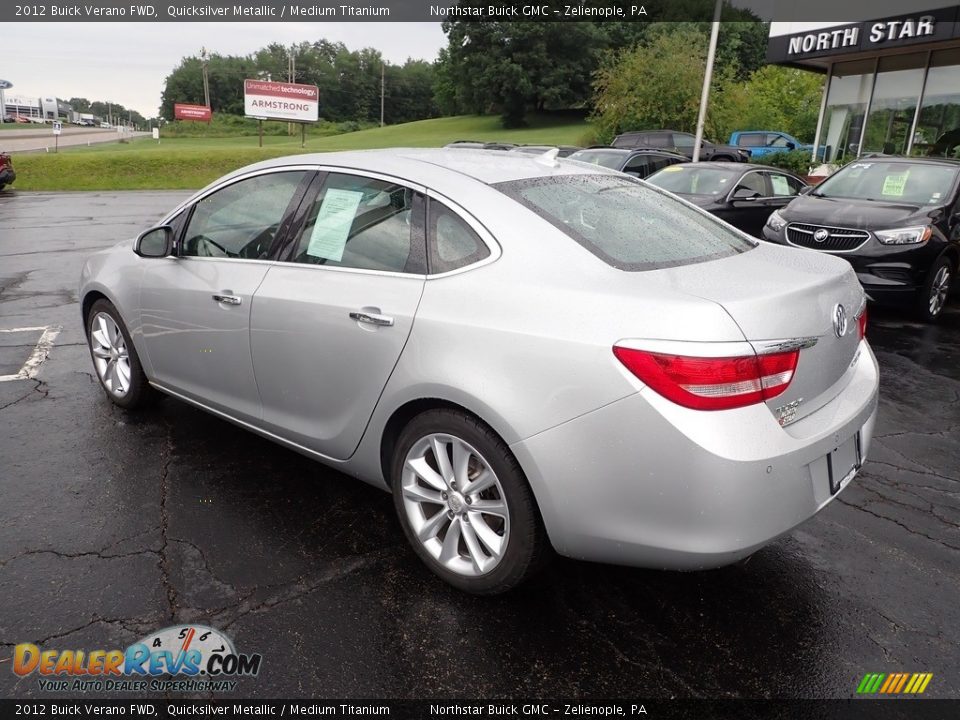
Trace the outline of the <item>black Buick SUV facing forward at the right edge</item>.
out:
<instances>
[{"instance_id":1,"label":"black Buick SUV facing forward at the right edge","mask_svg":"<svg viewBox=\"0 0 960 720\"><path fill-rule=\"evenodd\" d=\"M870 299L933 321L960 266L960 161L861 158L773 213L763 239L836 254Z\"/></svg>"}]
</instances>

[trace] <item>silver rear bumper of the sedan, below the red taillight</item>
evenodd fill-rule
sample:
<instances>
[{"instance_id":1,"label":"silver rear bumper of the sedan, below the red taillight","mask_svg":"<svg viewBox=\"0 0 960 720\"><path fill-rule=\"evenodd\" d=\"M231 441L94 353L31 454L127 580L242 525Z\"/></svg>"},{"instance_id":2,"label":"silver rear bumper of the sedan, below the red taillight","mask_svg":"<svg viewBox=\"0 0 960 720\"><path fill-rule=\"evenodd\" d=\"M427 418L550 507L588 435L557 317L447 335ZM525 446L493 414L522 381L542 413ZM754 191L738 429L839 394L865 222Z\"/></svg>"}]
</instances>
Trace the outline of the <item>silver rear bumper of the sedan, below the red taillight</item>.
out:
<instances>
[{"instance_id":1,"label":"silver rear bumper of the sedan, below the red taillight","mask_svg":"<svg viewBox=\"0 0 960 720\"><path fill-rule=\"evenodd\" d=\"M866 458L878 371L867 343L844 390L780 427L765 405L688 410L644 389L516 443L556 550L693 570L735 562L812 517L827 457L858 432Z\"/></svg>"}]
</instances>

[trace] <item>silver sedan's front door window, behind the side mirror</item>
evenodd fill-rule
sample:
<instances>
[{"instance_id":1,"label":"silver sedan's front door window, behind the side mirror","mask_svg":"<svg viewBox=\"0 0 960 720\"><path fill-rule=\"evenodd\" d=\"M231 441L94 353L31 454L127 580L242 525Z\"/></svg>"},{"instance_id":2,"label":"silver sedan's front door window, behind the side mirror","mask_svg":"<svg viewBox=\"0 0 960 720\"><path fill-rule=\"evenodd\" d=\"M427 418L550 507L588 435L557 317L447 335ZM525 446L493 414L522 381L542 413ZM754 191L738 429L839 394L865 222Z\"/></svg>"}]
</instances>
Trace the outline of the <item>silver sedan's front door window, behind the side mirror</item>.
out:
<instances>
[{"instance_id":1,"label":"silver sedan's front door window, behind the side mirror","mask_svg":"<svg viewBox=\"0 0 960 720\"><path fill-rule=\"evenodd\" d=\"M185 257L267 257L303 171L275 172L240 180L193 207L181 242Z\"/></svg>"}]
</instances>

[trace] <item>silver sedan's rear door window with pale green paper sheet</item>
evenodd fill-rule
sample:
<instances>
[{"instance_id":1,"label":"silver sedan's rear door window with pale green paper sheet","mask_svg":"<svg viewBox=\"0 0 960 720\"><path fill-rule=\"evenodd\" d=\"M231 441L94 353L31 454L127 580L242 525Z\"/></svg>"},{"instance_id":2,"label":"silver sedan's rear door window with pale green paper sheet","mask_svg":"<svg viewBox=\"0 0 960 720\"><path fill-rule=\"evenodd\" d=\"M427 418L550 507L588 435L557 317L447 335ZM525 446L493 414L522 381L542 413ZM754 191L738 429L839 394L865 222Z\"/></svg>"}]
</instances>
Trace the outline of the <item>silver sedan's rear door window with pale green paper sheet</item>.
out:
<instances>
[{"instance_id":1,"label":"silver sedan's rear door window with pale green paper sheet","mask_svg":"<svg viewBox=\"0 0 960 720\"><path fill-rule=\"evenodd\" d=\"M426 272L423 199L404 185L331 173L304 220L293 262Z\"/></svg>"}]
</instances>

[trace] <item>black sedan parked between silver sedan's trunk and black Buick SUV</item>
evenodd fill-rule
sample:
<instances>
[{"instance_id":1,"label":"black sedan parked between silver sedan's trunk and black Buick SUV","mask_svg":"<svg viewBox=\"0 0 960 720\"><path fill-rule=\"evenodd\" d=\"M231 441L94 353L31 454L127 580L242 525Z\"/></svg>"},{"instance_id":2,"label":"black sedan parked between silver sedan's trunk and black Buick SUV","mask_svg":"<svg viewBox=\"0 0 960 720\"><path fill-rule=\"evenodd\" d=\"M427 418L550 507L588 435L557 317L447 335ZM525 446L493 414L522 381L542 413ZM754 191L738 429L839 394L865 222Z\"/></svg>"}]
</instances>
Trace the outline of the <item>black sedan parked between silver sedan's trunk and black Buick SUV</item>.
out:
<instances>
[{"instance_id":1,"label":"black sedan parked between silver sedan's trunk and black Buick SUV","mask_svg":"<svg viewBox=\"0 0 960 720\"><path fill-rule=\"evenodd\" d=\"M807 184L796 175L768 165L684 163L647 178L745 233L760 237L763 224Z\"/></svg>"}]
</instances>

